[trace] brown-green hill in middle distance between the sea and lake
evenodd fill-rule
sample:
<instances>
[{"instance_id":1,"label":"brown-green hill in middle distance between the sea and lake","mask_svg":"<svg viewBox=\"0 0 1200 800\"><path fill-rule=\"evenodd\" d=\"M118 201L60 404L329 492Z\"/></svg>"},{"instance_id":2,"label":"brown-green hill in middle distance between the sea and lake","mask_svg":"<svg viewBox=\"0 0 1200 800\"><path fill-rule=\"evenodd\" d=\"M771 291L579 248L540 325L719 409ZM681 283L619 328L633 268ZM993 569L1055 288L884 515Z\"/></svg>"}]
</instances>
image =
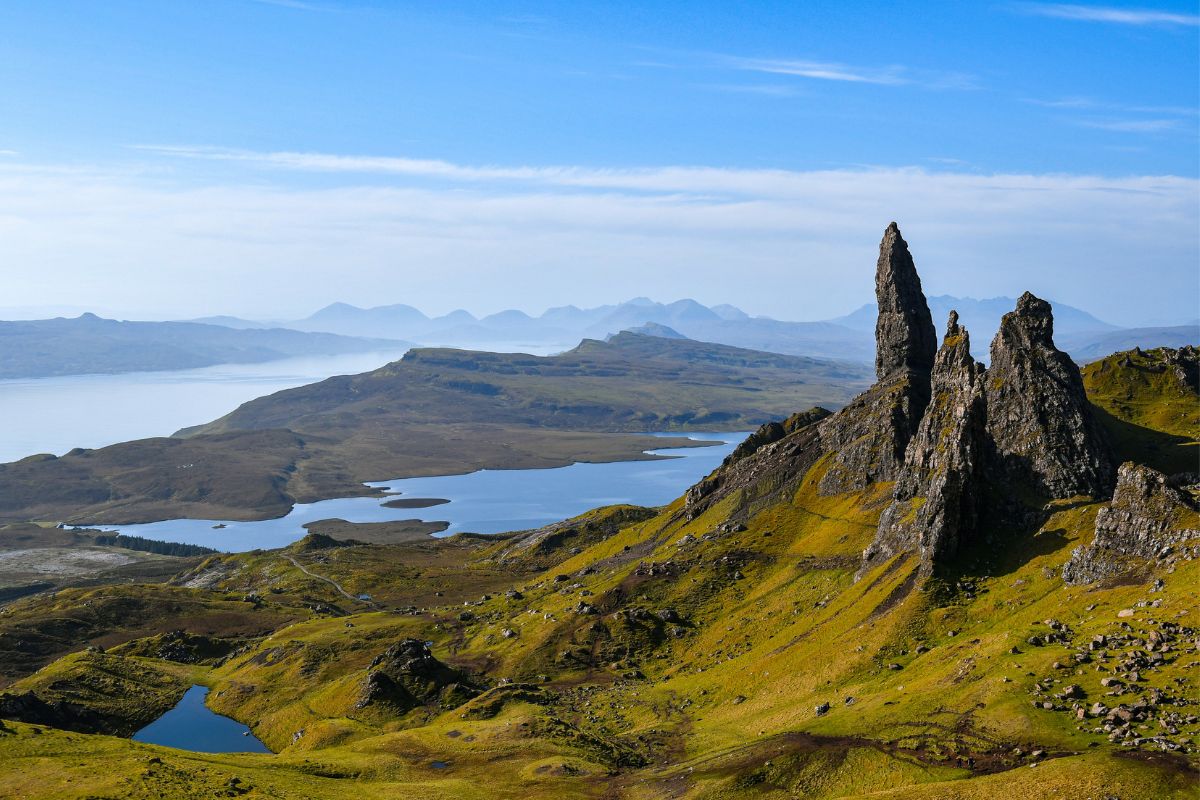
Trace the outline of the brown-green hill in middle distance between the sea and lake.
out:
<instances>
[{"instance_id":1,"label":"brown-green hill in middle distance between the sea and lake","mask_svg":"<svg viewBox=\"0 0 1200 800\"><path fill-rule=\"evenodd\" d=\"M647 458L654 431L737 431L840 405L862 367L620 333L559 356L410 350L245 403L175 438L0 465L0 519L262 519L364 481ZM624 434L624 435L614 435Z\"/></svg>"}]
</instances>

